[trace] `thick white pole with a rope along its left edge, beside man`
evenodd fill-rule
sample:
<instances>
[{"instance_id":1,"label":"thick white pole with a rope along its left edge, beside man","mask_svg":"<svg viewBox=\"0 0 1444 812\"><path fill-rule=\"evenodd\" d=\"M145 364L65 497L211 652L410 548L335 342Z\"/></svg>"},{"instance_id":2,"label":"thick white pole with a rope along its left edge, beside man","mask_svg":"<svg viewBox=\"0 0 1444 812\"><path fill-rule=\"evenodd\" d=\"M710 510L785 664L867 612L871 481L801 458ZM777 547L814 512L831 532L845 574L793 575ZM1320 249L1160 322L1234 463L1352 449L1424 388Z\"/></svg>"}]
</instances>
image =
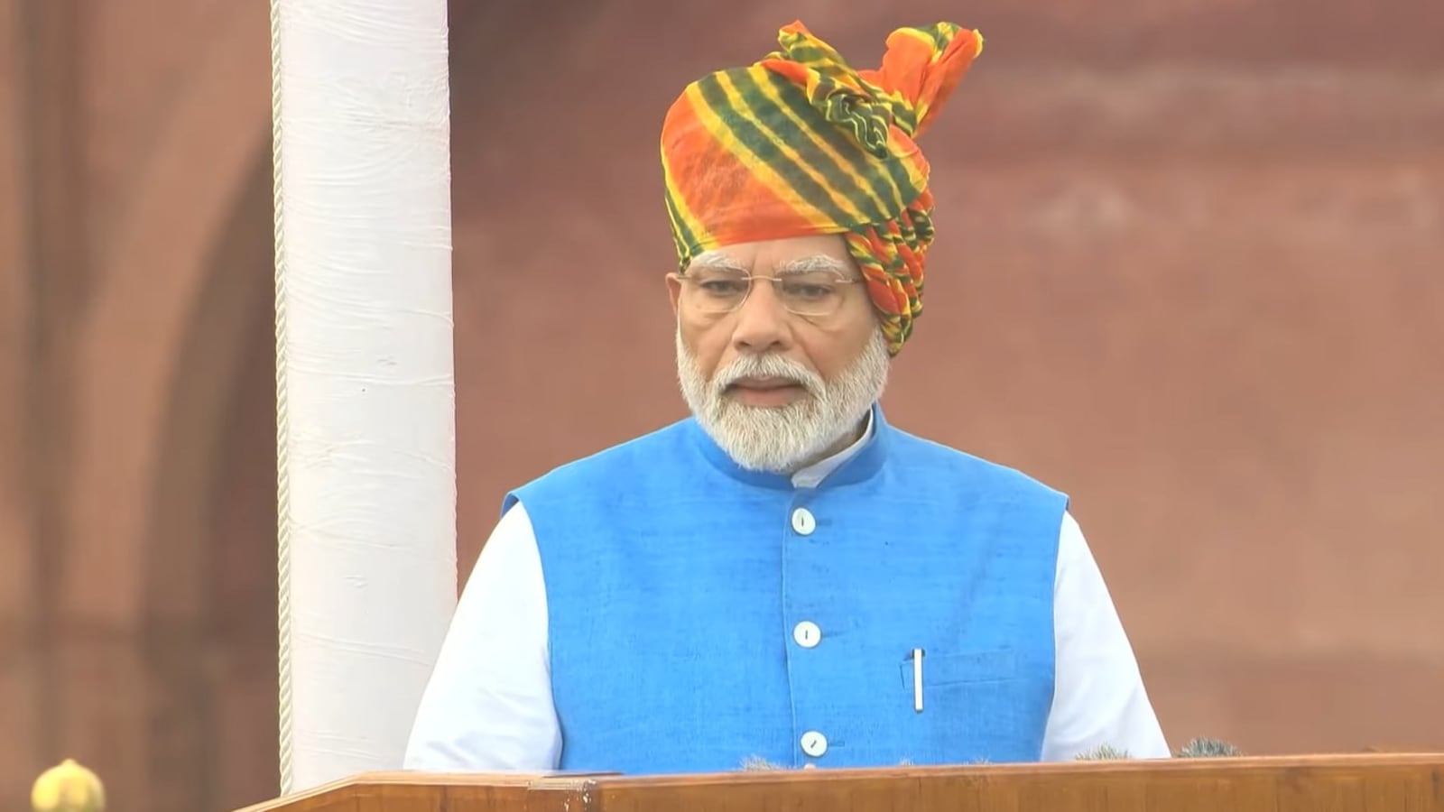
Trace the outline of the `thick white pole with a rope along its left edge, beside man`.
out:
<instances>
[{"instance_id":1,"label":"thick white pole with a rope along its left edge, beside man","mask_svg":"<svg viewBox=\"0 0 1444 812\"><path fill-rule=\"evenodd\" d=\"M456 602L446 0L271 0L280 792L401 766Z\"/></svg>"}]
</instances>

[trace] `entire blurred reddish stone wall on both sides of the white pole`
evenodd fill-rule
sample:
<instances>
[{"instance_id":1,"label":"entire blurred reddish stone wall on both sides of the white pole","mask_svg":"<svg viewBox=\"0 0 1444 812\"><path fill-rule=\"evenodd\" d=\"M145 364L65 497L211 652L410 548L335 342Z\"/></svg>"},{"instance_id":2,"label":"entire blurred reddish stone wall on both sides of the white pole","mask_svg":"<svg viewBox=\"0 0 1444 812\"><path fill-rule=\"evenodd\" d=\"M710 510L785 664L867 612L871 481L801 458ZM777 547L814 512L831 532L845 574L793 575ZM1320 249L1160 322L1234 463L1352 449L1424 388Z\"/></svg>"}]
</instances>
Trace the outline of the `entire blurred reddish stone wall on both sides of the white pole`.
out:
<instances>
[{"instance_id":1,"label":"entire blurred reddish stone wall on both sides of the white pole","mask_svg":"<svg viewBox=\"0 0 1444 812\"><path fill-rule=\"evenodd\" d=\"M683 415L661 114L793 17L986 35L887 407L1073 494L1170 737L1444 746L1435 0L453 0L462 572ZM274 793L269 114L264 3L0 0L0 806Z\"/></svg>"}]
</instances>

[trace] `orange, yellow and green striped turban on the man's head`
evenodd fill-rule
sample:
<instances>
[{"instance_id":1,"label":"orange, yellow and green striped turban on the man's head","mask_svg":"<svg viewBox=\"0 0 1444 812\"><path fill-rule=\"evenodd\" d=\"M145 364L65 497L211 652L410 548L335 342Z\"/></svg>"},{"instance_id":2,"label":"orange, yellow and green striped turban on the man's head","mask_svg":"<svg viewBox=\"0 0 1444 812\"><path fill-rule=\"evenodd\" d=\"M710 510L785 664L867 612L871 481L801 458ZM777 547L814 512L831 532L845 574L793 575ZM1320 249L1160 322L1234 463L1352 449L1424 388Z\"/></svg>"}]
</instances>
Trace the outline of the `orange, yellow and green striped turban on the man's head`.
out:
<instances>
[{"instance_id":1,"label":"orange, yellow and green striped turban on the man's head","mask_svg":"<svg viewBox=\"0 0 1444 812\"><path fill-rule=\"evenodd\" d=\"M917 139L982 52L952 23L894 30L882 66L855 71L800 22L780 52L709 74L667 111L661 166L682 273L719 246L842 234L888 353L923 311L933 243Z\"/></svg>"}]
</instances>

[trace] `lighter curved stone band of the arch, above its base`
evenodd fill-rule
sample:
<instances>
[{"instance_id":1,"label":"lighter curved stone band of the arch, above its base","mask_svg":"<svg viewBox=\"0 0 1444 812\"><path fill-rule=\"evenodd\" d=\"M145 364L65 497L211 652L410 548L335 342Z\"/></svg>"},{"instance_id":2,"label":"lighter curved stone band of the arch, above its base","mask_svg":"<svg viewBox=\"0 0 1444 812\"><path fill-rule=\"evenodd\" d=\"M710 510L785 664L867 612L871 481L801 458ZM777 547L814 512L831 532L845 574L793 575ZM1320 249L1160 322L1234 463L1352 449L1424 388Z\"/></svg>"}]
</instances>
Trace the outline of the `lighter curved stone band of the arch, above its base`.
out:
<instances>
[{"instance_id":1,"label":"lighter curved stone band of the arch, above its base","mask_svg":"<svg viewBox=\"0 0 1444 812\"><path fill-rule=\"evenodd\" d=\"M75 416L65 559L85 566L68 563L62 572L61 607L72 621L118 623L130 631L144 623L157 474L166 462L157 449L175 418L169 405L188 400L176 389L214 389L234 376L221 367L188 370L183 380L178 374L211 249L269 134L270 59L257 46L267 42L266 13L244 3L228 13L157 136L97 275L92 311L77 325L82 410ZM199 439L214 429L196 431ZM87 579L87 572L107 579Z\"/></svg>"}]
</instances>

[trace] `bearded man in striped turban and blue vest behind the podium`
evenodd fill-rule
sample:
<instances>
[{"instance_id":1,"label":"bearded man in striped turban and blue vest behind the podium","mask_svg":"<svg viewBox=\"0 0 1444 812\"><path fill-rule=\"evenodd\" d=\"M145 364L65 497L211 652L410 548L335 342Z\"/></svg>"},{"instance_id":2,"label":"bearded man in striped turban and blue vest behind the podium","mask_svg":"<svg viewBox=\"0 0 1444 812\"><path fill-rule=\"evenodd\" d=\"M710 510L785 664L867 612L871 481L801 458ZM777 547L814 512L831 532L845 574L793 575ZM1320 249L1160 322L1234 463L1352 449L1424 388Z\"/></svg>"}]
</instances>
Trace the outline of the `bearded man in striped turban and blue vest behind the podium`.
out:
<instances>
[{"instance_id":1,"label":"bearded man in striped turban and blue vest behind the podium","mask_svg":"<svg viewBox=\"0 0 1444 812\"><path fill-rule=\"evenodd\" d=\"M780 43L663 126L693 416L505 497L409 769L1168 756L1067 497L878 407L933 241L914 139L982 39Z\"/></svg>"}]
</instances>

